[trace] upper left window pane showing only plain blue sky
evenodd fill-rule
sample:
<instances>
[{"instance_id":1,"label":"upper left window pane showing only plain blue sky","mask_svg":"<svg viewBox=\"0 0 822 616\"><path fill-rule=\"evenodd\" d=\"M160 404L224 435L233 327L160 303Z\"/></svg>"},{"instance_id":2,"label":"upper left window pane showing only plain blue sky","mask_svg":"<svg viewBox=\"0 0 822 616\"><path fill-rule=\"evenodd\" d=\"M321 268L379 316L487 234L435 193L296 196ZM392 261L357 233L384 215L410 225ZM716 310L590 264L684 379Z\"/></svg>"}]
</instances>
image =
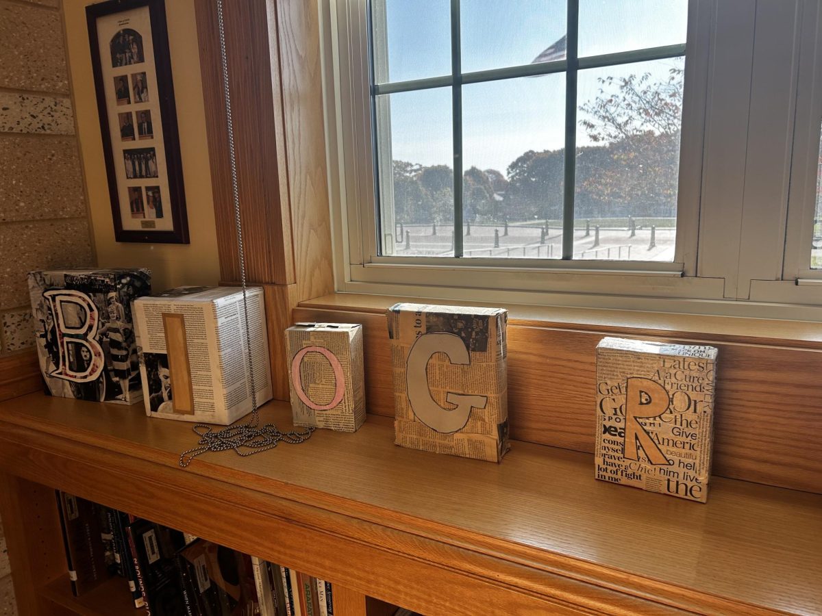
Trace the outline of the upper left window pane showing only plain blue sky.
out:
<instances>
[{"instance_id":1,"label":"upper left window pane showing only plain blue sky","mask_svg":"<svg viewBox=\"0 0 822 616\"><path fill-rule=\"evenodd\" d=\"M373 0L376 83L451 73L451 9L447 0Z\"/></svg>"}]
</instances>

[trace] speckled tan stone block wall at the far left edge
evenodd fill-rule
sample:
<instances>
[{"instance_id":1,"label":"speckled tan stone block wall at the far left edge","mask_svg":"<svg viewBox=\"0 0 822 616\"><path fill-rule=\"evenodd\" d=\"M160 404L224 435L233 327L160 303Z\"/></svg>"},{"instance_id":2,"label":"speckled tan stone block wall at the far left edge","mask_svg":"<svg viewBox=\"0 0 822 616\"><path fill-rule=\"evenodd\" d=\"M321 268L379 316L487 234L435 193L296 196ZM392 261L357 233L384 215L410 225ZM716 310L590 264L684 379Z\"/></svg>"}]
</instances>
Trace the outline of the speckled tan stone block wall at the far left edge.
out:
<instances>
[{"instance_id":1,"label":"speckled tan stone block wall at the far left edge","mask_svg":"<svg viewBox=\"0 0 822 616\"><path fill-rule=\"evenodd\" d=\"M25 275L94 263L60 0L0 0L0 355L30 352ZM0 616L16 614L0 522Z\"/></svg>"}]
</instances>

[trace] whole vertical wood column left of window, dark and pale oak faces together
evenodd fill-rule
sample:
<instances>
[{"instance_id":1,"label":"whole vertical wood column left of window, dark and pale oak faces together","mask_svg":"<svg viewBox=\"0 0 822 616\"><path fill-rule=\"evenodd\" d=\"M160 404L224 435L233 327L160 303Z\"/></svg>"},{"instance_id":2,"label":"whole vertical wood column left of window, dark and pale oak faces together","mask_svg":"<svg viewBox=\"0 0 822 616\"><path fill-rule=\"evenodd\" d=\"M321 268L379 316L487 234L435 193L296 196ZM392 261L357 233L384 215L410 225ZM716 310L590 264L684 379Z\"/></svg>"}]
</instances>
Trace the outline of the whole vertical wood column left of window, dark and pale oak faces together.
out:
<instances>
[{"instance_id":1,"label":"whole vertical wood column left of window, dark and pale oak faces together","mask_svg":"<svg viewBox=\"0 0 822 616\"><path fill-rule=\"evenodd\" d=\"M247 281L265 289L274 398L289 399L284 330L297 302L334 290L316 3L224 10ZM240 280L219 30L196 0L220 278Z\"/></svg>"}]
</instances>

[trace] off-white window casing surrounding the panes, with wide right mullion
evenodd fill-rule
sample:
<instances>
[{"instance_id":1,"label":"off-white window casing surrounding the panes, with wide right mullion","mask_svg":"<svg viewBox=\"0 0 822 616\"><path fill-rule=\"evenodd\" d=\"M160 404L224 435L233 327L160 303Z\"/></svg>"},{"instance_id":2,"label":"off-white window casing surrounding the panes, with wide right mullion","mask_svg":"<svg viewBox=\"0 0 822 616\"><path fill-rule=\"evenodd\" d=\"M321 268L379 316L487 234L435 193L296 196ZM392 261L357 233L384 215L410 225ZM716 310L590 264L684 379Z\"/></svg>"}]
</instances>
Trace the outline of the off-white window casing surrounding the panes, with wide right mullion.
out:
<instances>
[{"instance_id":1,"label":"off-white window casing surrounding the panes, with wide right mullion","mask_svg":"<svg viewBox=\"0 0 822 616\"><path fill-rule=\"evenodd\" d=\"M822 320L818 2L690 0L672 263L379 255L367 0L318 2L339 292Z\"/></svg>"}]
</instances>

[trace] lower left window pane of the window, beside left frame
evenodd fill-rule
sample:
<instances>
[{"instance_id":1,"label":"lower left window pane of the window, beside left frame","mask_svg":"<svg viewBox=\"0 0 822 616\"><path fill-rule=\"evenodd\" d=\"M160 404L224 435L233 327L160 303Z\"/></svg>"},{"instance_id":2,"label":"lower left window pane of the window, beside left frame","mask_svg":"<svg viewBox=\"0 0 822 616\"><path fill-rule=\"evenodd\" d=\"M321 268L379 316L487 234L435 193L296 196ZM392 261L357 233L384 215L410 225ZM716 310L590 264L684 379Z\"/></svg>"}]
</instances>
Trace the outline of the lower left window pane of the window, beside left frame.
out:
<instances>
[{"instance_id":1,"label":"lower left window pane of the window, beside left frame","mask_svg":"<svg viewBox=\"0 0 822 616\"><path fill-rule=\"evenodd\" d=\"M376 97L381 255L453 256L451 89Z\"/></svg>"}]
</instances>

